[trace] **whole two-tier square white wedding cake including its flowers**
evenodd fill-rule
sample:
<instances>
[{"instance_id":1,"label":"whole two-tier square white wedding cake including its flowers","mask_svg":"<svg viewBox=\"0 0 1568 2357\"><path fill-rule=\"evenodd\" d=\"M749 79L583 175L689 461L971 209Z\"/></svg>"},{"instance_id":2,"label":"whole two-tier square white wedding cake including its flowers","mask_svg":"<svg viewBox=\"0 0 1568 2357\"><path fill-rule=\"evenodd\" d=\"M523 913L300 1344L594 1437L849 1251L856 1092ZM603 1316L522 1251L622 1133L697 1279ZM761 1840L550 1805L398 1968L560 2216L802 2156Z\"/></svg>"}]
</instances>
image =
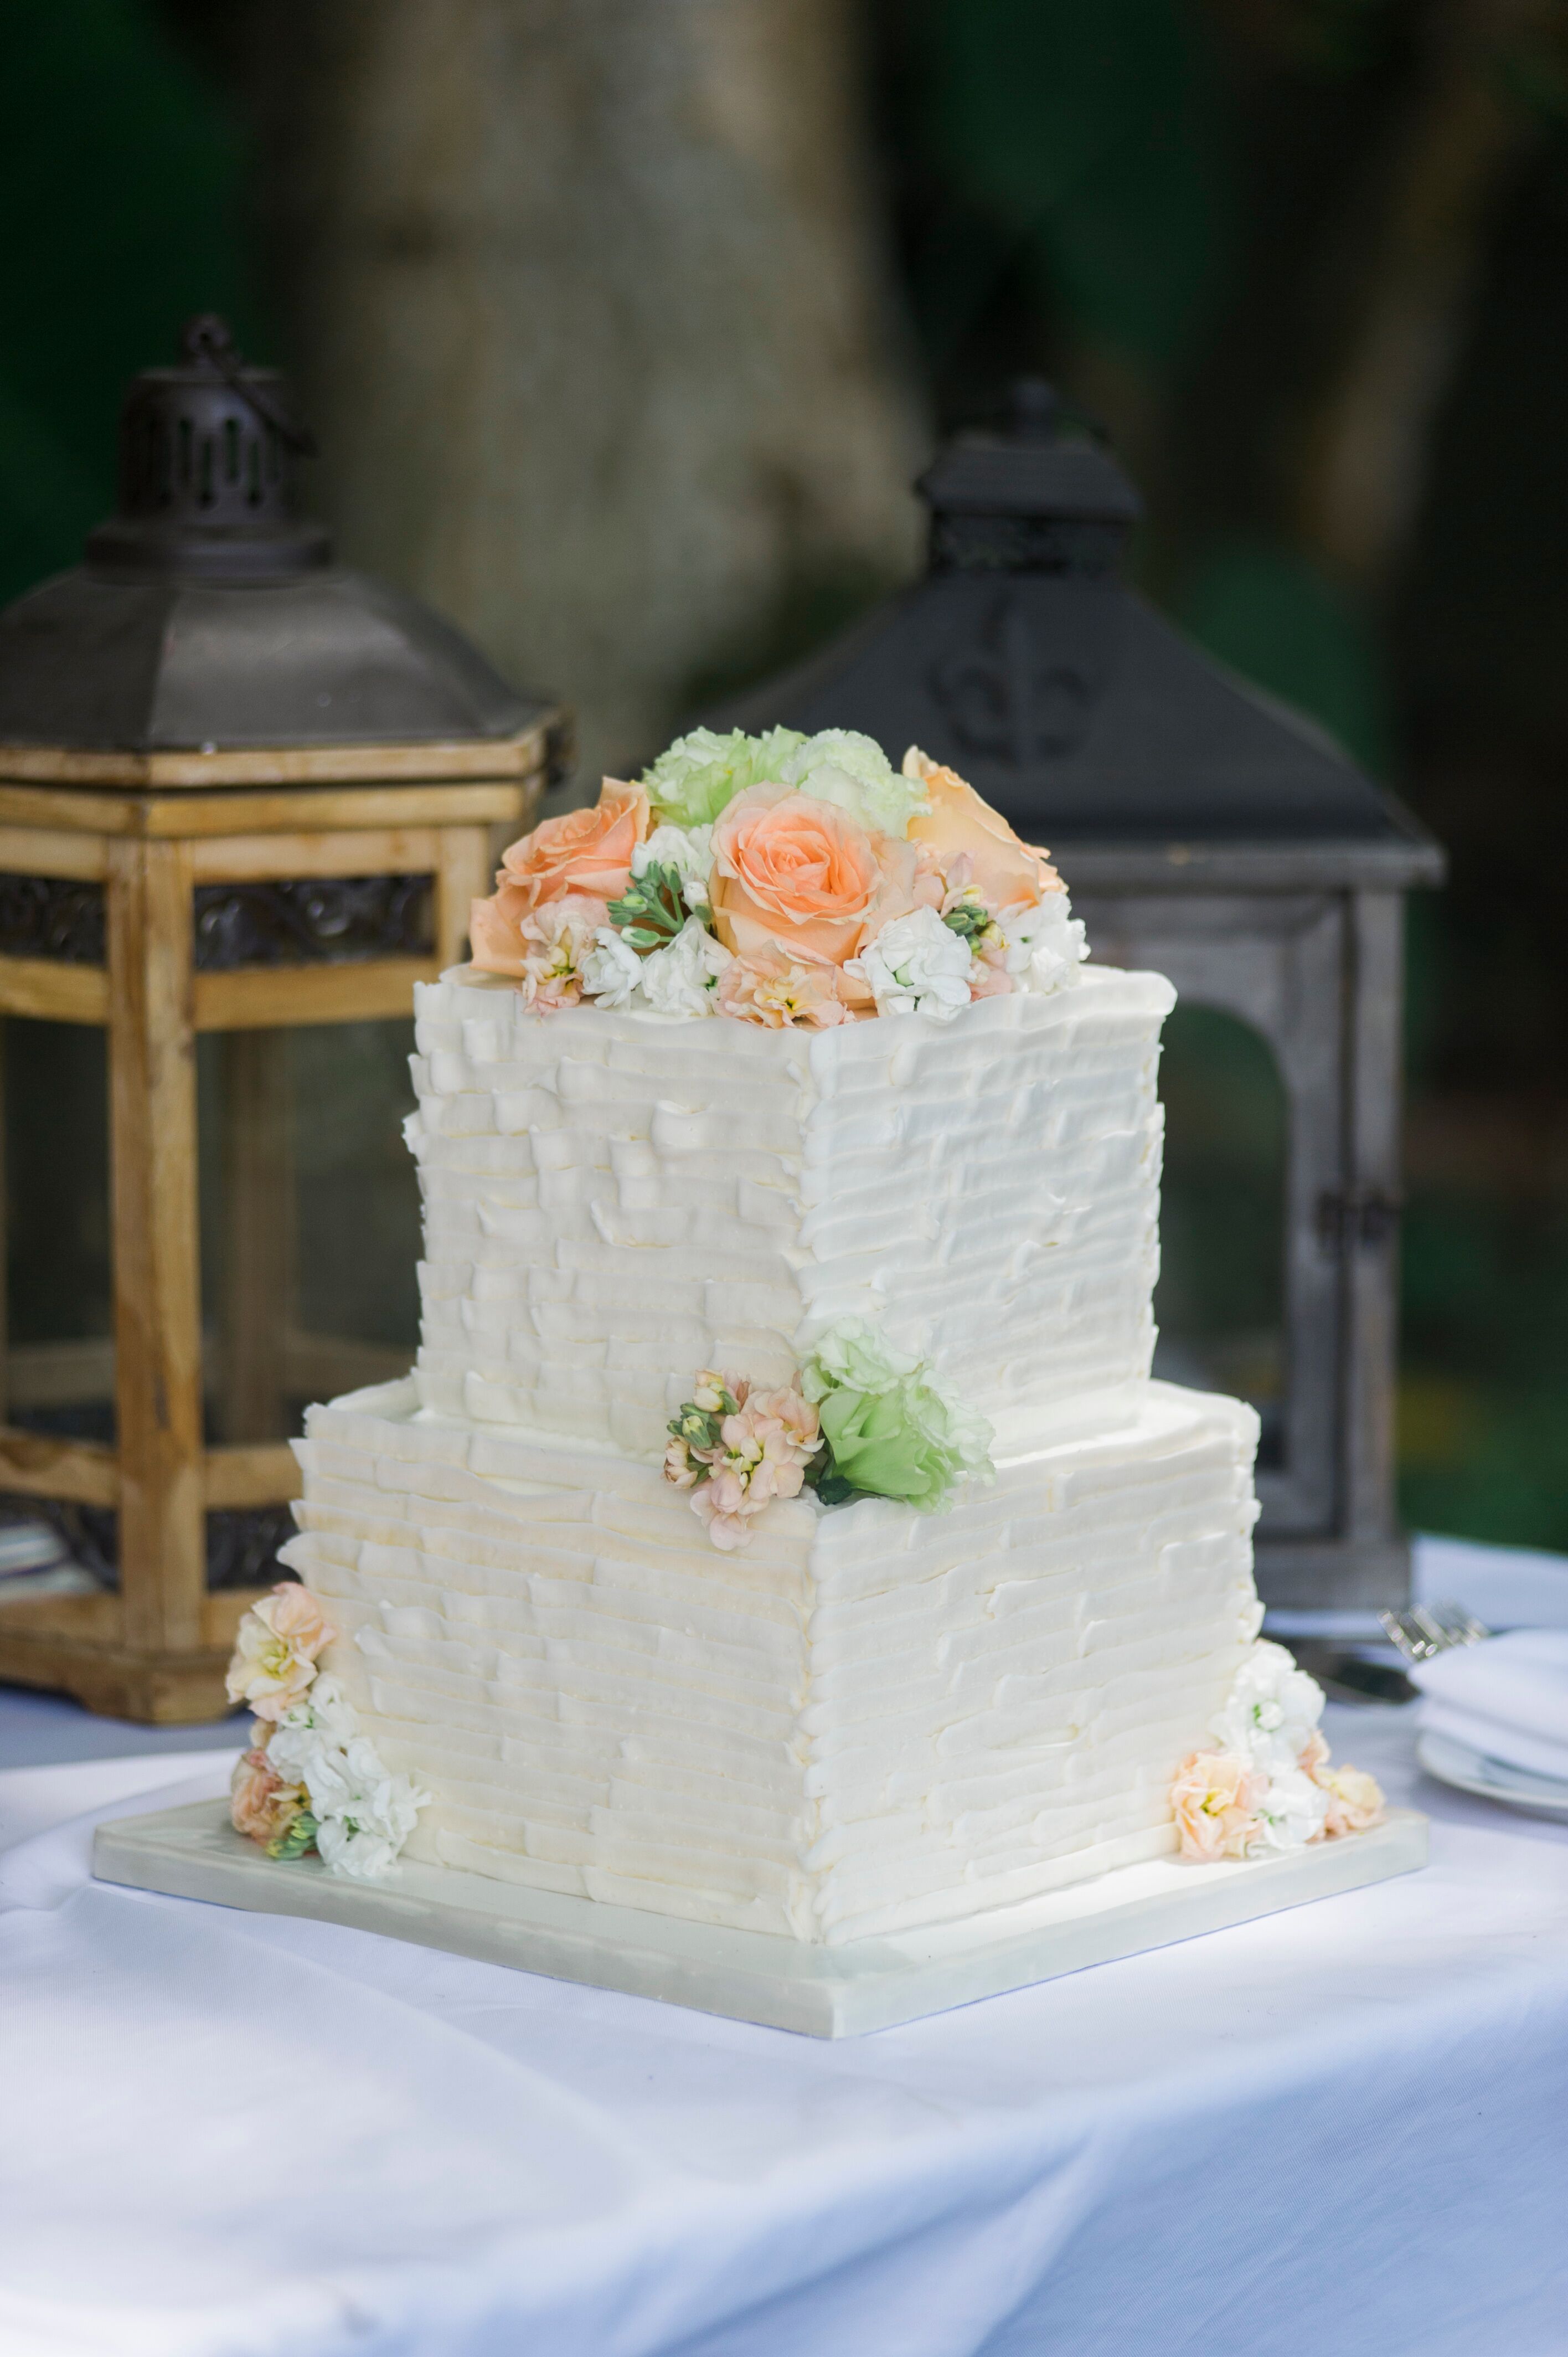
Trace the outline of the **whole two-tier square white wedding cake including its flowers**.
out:
<instances>
[{"instance_id":1,"label":"whole two-tier square white wedding cake including its flowers","mask_svg":"<svg viewBox=\"0 0 1568 2357\"><path fill-rule=\"evenodd\" d=\"M1254 1643L1257 1419L1148 1374L1174 995L1040 853L863 738L681 740L474 950L243 1831L837 1945L1370 1822Z\"/></svg>"}]
</instances>

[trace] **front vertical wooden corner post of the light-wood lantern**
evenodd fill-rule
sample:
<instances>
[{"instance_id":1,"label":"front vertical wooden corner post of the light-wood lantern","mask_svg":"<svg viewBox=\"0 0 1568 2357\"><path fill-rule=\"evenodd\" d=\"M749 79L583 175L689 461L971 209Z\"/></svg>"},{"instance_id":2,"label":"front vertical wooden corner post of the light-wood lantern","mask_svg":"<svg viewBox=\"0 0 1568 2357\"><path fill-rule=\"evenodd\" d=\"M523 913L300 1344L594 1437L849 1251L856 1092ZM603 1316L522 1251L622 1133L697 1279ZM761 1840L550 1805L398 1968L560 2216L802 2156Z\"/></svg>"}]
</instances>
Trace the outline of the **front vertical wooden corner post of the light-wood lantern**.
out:
<instances>
[{"instance_id":1,"label":"front vertical wooden corner post of the light-wood lantern","mask_svg":"<svg viewBox=\"0 0 1568 2357\"><path fill-rule=\"evenodd\" d=\"M196 1652L207 1549L191 860L182 841L116 841L108 853L108 1127L120 1626L130 1652ZM222 1709L222 1685L212 1709ZM146 1716L165 1714L149 1706ZM170 1716L198 1714L186 1704Z\"/></svg>"}]
</instances>

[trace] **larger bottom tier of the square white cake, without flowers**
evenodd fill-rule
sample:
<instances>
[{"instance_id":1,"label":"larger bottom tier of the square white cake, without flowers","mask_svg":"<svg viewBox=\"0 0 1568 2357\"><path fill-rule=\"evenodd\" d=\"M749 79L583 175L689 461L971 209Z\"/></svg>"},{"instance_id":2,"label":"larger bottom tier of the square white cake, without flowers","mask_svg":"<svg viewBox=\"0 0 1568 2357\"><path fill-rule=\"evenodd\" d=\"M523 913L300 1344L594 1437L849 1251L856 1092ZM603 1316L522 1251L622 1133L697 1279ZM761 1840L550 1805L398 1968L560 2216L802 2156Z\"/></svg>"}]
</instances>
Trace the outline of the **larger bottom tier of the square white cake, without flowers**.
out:
<instances>
[{"instance_id":1,"label":"larger bottom tier of the square white cake, without flowers","mask_svg":"<svg viewBox=\"0 0 1568 2357\"><path fill-rule=\"evenodd\" d=\"M726 1556L658 1466L391 1384L311 1409L288 1560L431 1796L410 1860L842 1945L1174 1850L1261 1619L1257 1419L1167 1384L1115 1419Z\"/></svg>"}]
</instances>

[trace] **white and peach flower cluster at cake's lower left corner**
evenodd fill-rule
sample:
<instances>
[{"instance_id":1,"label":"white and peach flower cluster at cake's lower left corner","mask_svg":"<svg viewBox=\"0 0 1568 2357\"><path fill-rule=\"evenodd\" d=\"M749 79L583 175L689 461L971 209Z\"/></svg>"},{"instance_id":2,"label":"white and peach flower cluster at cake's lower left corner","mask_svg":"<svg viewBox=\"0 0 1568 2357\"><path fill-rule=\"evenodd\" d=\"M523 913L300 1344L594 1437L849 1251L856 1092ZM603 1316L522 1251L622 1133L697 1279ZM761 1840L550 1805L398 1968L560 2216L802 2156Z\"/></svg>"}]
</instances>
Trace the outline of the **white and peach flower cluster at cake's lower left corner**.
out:
<instances>
[{"instance_id":1,"label":"white and peach flower cluster at cake's lower left corner","mask_svg":"<svg viewBox=\"0 0 1568 2357\"><path fill-rule=\"evenodd\" d=\"M337 1678L316 1657L337 1631L316 1598L281 1582L241 1619L229 1699L257 1714L229 1817L274 1860L316 1850L332 1874L380 1881L429 1798L391 1775Z\"/></svg>"}]
</instances>

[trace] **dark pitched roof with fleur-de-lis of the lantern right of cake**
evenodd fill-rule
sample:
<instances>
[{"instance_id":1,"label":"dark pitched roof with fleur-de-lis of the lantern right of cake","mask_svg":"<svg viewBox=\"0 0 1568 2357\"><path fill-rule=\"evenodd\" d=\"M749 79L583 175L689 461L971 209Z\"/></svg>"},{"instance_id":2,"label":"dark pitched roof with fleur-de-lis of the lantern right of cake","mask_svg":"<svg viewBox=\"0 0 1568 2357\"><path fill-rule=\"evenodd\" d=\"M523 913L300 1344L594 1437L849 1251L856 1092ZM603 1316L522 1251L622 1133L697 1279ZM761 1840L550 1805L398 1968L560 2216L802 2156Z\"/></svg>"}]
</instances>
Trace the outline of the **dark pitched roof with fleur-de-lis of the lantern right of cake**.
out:
<instances>
[{"instance_id":1,"label":"dark pitched roof with fleur-de-lis of the lantern right of cake","mask_svg":"<svg viewBox=\"0 0 1568 2357\"><path fill-rule=\"evenodd\" d=\"M707 719L861 728L894 759L917 742L1052 849L1335 846L1436 879L1436 844L1325 731L1122 585L1137 493L1028 391L1021 429L960 438L922 476L927 577Z\"/></svg>"}]
</instances>

